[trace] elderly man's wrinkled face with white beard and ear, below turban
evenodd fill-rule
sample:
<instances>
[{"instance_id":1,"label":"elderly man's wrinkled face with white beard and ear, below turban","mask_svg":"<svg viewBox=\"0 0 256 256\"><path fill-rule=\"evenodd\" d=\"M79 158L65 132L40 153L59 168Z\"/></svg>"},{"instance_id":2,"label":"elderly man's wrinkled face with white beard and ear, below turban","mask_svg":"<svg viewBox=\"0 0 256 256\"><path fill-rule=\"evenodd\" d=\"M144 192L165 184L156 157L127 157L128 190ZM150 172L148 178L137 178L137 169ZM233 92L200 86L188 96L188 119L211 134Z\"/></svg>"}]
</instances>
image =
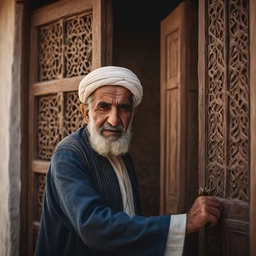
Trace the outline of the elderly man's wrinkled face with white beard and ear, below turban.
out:
<instances>
[{"instance_id":1,"label":"elderly man's wrinkled face with white beard and ear, below turban","mask_svg":"<svg viewBox=\"0 0 256 256\"><path fill-rule=\"evenodd\" d=\"M131 140L132 93L120 86L103 86L92 95L89 110L82 105L90 141L101 155L127 152Z\"/></svg>"}]
</instances>

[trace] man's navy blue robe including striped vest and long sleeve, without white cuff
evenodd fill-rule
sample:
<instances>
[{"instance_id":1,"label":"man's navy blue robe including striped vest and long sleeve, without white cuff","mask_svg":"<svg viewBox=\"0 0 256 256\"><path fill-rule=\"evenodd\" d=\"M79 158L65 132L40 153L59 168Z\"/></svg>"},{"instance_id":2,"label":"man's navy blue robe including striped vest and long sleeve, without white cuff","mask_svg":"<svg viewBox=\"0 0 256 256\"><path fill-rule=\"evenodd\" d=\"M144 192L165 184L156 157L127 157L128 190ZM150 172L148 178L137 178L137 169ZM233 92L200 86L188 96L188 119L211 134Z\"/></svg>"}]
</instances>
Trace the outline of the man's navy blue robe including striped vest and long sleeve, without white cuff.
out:
<instances>
[{"instance_id":1,"label":"man's navy blue robe including striped vest and long sleeve, without white cuff","mask_svg":"<svg viewBox=\"0 0 256 256\"><path fill-rule=\"evenodd\" d=\"M162 256L170 216L142 217L137 178L129 154L136 216L123 212L117 176L90 146L86 128L63 139L47 177L36 256Z\"/></svg>"}]
</instances>

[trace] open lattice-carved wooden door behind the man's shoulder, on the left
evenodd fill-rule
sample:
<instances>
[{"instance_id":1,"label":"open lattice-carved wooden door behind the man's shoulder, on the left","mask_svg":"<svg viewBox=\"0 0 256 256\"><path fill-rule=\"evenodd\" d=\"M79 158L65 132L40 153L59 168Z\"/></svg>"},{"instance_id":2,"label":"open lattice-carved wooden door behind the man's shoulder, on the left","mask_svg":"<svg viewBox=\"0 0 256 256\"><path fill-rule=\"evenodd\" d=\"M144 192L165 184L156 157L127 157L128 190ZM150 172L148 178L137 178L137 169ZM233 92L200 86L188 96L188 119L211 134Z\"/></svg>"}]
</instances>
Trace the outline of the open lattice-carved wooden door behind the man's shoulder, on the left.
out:
<instances>
[{"instance_id":1,"label":"open lattice-carved wooden door behind the man's shoulder, on the left","mask_svg":"<svg viewBox=\"0 0 256 256\"><path fill-rule=\"evenodd\" d=\"M79 82L92 69L111 65L111 11L108 0L63 0L32 14L29 255L35 249L54 148L84 124Z\"/></svg>"}]
</instances>

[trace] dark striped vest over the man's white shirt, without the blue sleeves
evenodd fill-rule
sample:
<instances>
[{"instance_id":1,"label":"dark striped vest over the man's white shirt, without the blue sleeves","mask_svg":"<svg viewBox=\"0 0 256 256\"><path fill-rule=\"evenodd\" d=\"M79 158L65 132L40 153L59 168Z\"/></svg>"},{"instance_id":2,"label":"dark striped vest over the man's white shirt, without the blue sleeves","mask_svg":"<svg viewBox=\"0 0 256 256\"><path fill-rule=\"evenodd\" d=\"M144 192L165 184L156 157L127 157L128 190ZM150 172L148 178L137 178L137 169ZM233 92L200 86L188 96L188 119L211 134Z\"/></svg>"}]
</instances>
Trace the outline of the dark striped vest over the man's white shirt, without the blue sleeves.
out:
<instances>
[{"instance_id":1,"label":"dark striped vest over the man's white shirt, without the blue sleeves","mask_svg":"<svg viewBox=\"0 0 256 256\"><path fill-rule=\"evenodd\" d=\"M80 128L63 139L57 145L54 153L60 150L70 150L75 153L84 162L84 169L89 170L94 186L104 199L105 205L116 212L123 211L121 191L116 173L108 159L97 154L90 146L86 127ZM135 213L141 215L138 182L132 158L129 154L125 154L122 159L133 188Z\"/></svg>"}]
</instances>

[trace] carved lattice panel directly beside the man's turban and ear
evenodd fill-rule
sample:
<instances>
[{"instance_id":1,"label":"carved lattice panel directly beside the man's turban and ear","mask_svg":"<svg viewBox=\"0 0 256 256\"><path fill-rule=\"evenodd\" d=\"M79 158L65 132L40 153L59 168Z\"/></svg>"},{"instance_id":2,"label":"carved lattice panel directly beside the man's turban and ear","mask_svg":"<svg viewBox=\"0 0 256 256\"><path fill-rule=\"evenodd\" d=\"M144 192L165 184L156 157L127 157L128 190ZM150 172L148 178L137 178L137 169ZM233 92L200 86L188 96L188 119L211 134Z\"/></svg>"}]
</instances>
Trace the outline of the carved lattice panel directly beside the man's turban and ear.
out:
<instances>
[{"instance_id":1,"label":"carved lattice panel directly beside the man's turban and ear","mask_svg":"<svg viewBox=\"0 0 256 256\"><path fill-rule=\"evenodd\" d=\"M85 124L80 111L80 101L78 93L69 92L65 94L65 117L64 117L64 137L75 132Z\"/></svg>"}]
</instances>

